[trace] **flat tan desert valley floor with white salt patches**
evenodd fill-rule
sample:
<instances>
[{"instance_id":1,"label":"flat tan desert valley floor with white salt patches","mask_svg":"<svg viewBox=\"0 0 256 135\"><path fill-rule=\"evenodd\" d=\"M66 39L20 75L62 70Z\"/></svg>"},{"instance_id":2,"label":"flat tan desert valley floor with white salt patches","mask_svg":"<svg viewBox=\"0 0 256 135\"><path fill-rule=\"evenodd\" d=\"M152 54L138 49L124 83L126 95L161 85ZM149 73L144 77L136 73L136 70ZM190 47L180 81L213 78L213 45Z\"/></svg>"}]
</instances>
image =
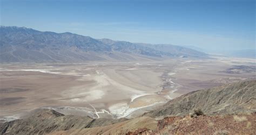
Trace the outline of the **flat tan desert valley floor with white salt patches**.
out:
<instances>
[{"instance_id":1,"label":"flat tan desert valley floor with white salt patches","mask_svg":"<svg viewBox=\"0 0 256 135\"><path fill-rule=\"evenodd\" d=\"M8 63L0 68L0 118L38 108L92 118L133 118L193 90L255 80L255 60Z\"/></svg>"}]
</instances>

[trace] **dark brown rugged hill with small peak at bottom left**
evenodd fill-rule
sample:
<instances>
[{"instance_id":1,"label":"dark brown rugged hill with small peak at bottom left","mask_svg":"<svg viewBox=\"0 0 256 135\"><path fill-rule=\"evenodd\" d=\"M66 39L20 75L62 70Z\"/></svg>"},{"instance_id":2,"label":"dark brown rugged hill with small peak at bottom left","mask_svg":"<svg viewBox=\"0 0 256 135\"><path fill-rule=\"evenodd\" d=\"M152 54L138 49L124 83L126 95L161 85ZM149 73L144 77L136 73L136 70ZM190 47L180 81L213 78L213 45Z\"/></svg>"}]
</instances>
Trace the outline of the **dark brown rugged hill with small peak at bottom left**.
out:
<instances>
[{"instance_id":1,"label":"dark brown rugged hill with small peak at bottom left","mask_svg":"<svg viewBox=\"0 0 256 135\"><path fill-rule=\"evenodd\" d=\"M122 119L92 119L90 117L63 115L54 110L42 109L25 119L0 125L1 134L46 134L53 131L84 129L123 122Z\"/></svg>"}]
</instances>

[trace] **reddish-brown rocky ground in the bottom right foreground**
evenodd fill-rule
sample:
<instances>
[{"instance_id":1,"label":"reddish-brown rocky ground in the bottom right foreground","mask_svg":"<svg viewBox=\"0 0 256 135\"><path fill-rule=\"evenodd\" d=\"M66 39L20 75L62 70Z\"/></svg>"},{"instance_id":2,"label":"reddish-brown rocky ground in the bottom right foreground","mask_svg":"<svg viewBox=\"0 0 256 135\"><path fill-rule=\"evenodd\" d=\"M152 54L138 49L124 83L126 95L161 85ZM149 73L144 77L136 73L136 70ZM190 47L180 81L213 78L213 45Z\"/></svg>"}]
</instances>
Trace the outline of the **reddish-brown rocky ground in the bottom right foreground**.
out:
<instances>
[{"instance_id":1,"label":"reddish-brown rocky ground in the bottom right foreground","mask_svg":"<svg viewBox=\"0 0 256 135\"><path fill-rule=\"evenodd\" d=\"M127 134L255 134L256 113L247 115L165 117L157 130L138 129Z\"/></svg>"}]
</instances>

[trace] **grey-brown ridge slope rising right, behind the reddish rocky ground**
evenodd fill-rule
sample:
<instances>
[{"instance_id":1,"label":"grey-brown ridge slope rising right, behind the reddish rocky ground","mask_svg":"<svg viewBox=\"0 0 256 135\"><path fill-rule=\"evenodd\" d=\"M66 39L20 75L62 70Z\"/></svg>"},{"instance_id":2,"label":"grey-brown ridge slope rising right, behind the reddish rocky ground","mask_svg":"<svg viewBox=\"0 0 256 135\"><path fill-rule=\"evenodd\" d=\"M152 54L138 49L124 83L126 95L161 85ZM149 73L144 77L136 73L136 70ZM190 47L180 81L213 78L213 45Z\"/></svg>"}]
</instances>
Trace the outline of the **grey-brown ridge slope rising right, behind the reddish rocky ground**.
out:
<instances>
[{"instance_id":1,"label":"grey-brown ridge slope rising right, behind the reddish rocky ground","mask_svg":"<svg viewBox=\"0 0 256 135\"><path fill-rule=\"evenodd\" d=\"M185 116L193 109L201 109L206 115L256 112L256 81L193 91L171 100L157 110L145 113L144 116Z\"/></svg>"}]
</instances>

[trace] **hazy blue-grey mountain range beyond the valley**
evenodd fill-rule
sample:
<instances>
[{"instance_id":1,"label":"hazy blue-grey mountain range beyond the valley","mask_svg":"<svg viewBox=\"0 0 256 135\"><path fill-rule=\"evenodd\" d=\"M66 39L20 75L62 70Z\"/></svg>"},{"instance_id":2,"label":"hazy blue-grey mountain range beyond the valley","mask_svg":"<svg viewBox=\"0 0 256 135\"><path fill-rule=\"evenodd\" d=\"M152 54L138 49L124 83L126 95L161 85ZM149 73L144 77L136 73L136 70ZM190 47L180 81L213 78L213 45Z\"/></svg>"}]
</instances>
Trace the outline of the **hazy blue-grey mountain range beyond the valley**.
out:
<instances>
[{"instance_id":1,"label":"hazy blue-grey mountain range beyond the valley","mask_svg":"<svg viewBox=\"0 0 256 135\"><path fill-rule=\"evenodd\" d=\"M208 57L206 53L181 46L93 39L70 32L41 32L17 26L1 26L0 37L0 62L130 61Z\"/></svg>"}]
</instances>

